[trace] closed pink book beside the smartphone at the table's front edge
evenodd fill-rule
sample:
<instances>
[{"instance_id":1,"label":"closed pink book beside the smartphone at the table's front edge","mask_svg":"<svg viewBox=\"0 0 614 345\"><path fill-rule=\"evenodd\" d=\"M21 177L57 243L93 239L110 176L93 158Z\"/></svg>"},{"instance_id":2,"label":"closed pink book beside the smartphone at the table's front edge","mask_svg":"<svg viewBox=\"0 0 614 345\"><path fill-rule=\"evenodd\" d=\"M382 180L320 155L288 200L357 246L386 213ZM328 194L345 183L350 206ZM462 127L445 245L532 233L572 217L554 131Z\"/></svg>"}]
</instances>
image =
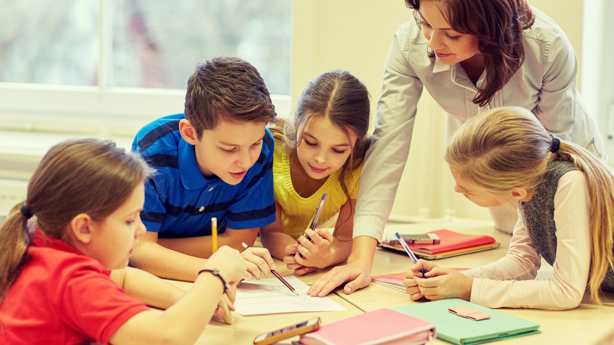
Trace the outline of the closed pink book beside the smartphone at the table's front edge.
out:
<instances>
[{"instance_id":1,"label":"closed pink book beside the smartphone at the table's front edge","mask_svg":"<svg viewBox=\"0 0 614 345\"><path fill-rule=\"evenodd\" d=\"M305 345L422 345L435 338L435 327L416 317L378 309L365 312L301 335Z\"/></svg>"}]
</instances>

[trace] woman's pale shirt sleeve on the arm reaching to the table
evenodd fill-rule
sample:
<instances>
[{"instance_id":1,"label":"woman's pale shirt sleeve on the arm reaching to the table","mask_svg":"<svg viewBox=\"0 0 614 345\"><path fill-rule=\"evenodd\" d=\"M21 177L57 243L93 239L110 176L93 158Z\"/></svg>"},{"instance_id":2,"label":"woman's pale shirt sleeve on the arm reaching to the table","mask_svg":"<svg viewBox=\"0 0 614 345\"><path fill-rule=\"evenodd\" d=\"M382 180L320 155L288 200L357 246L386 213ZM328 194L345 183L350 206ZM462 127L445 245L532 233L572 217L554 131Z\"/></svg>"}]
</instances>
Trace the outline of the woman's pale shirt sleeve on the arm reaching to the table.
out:
<instances>
[{"instance_id":1,"label":"woman's pale shirt sleeve on the arm reaching to the table","mask_svg":"<svg viewBox=\"0 0 614 345\"><path fill-rule=\"evenodd\" d=\"M378 241L383 238L410 150L422 82L406 58L408 28L404 25L395 33L384 64L373 131L375 142L367 151L360 174L354 237L370 236ZM426 55L426 47L416 48L424 48Z\"/></svg>"}]
</instances>

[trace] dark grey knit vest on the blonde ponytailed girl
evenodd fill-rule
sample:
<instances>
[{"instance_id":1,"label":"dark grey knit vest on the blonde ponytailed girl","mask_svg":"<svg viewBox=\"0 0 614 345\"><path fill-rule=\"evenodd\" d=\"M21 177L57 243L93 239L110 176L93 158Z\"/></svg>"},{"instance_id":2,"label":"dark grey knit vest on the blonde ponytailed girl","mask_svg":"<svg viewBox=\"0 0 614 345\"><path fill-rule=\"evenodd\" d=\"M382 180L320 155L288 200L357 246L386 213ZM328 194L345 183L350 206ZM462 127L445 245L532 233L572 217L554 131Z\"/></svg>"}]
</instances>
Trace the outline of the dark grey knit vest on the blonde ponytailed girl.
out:
<instances>
[{"instance_id":1,"label":"dark grey knit vest on the blonde ponytailed girl","mask_svg":"<svg viewBox=\"0 0 614 345\"><path fill-rule=\"evenodd\" d=\"M533 245L544 260L553 265L556 258L556 224L554 224L554 194L559 179L569 171L577 170L573 163L550 160L546 173L528 203L518 202L524 225ZM614 292L614 271L608 268L601 289Z\"/></svg>"}]
</instances>

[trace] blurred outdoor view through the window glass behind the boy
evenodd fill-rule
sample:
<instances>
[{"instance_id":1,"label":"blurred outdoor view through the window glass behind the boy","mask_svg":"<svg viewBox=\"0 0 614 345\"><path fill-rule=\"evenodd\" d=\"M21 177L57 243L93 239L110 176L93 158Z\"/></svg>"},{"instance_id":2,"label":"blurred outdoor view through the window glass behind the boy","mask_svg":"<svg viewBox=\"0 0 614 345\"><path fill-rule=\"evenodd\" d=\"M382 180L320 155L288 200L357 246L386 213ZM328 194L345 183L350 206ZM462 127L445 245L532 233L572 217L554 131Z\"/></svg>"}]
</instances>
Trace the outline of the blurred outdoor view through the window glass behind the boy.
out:
<instances>
[{"instance_id":1,"label":"blurred outdoor view through the window glass behind the boy","mask_svg":"<svg viewBox=\"0 0 614 345\"><path fill-rule=\"evenodd\" d=\"M196 63L239 56L258 69L271 93L288 94L291 6L290 0L0 0L0 82L184 89ZM104 61L100 28L109 35Z\"/></svg>"}]
</instances>

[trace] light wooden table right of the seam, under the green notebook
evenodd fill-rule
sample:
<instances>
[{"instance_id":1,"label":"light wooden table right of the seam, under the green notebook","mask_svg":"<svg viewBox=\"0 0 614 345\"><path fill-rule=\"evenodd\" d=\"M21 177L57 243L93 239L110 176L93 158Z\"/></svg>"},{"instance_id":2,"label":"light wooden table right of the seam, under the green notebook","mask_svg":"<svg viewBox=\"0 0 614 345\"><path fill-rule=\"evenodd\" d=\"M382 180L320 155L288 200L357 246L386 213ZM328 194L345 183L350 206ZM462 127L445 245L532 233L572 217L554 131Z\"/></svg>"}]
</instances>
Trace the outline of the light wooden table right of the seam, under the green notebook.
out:
<instances>
[{"instance_id":1,"label":"light wooden table right of the seam, under the green notebook","mask_svg":"<svg viewBox=\"0 0 614 345\"><path fill-rule=\"evenodd\" d=\"M475 224L475 226L472 226ZM489 222L454 222L432 224L405 224L390 225L387 232L399 230L425 232L447 228L468 234L489 235L501 242L501 247L474 254L460 255L458 257L435 260L440 266L473 268L494 262L503 257L507 252L511 235L497 231ZM411 261L405 253L397 254L384 249L377 249L371 276L379 274L399 273L408 268ZM541 276L551 274L552 267L542 261L539 271ZM406 293L372 283L369 287L359 290L351 295L345 295L340 289L338 295L365 312L379 308L389 308L403 304L419 303L412 301ZM567 311L546 311L542 309L497 309L510 315L531 320L540 324L541 333L537 335L523 336L519 338L500 341L502 344L597 344L612 338L614 332L614 293L604 293L604 304L598 306L589 301L585 295L578 308ZM610 337L610 338L608 338ZM499 341L497 341L499 343ZM435 344L449 344L437 339ZM603 343L607 344L607 343Z\"/></svg>"}]
</instances>

